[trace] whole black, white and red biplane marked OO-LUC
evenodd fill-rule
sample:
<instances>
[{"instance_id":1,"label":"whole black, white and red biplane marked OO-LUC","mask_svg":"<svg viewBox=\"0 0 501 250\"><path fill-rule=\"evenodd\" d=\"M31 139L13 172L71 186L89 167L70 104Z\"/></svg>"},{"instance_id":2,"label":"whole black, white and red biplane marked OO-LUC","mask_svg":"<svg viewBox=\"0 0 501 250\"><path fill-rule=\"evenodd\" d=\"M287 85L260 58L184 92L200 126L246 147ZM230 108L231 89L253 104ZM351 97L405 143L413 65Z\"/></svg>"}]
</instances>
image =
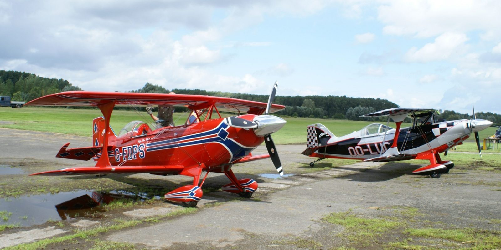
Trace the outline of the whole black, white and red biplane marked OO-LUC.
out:
<instances>
[{"instance_id":1,"label":"whole black, white and red biplane marked OO-LUC","mask_svg":"<svg viewBox=\"0 0 501 250\"><path fill-rule=\"evenodd\" d=\"M412 173L438 178L454 166L452 161L440 159L439 153L462 144L474 132L481 156L478 131L489 127L492 122L476 119L474 110L473 119L436 122L433 116L435 111L432 108L397 107L362 115L387 116L395 122L396 128L372 123L341 137L335 136L320 123L311 124L308 125L308 148L303 154L318 157L310 162L311 166L324 158L364 161L427 159L429 165L419 167ZM407 115L412 117L412 125L401 128Z\"/></svg>"}]
</instances>

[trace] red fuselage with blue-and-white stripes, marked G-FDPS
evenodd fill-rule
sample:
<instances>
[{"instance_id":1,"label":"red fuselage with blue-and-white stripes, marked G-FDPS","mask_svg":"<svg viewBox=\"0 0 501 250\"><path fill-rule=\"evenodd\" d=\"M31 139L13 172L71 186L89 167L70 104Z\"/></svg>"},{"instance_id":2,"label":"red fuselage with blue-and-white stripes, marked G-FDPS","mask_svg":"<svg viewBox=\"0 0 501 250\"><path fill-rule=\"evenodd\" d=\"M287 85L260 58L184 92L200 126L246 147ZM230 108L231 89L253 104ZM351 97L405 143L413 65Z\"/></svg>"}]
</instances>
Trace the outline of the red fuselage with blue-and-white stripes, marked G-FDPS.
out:
<instances>
[{"instance_id":1,"label":"red fuselage with blue-and-white stripes, marked G-FDPS","mask_svg":"<svg viewBox=\"0 0 501 250\"><path fill-rule=\"evenodd\" d=\"M257 115L238 117L253 120ZM193 166L205 168L231 164L248 155L264 141L253 129L232 127L223 118L209 119L181 126L130 131L110 138L108 153L112 165ZM168 172L169 169L166 169ZM172 173L179 170L170 169Z\"/></svg>"}]
</instances>

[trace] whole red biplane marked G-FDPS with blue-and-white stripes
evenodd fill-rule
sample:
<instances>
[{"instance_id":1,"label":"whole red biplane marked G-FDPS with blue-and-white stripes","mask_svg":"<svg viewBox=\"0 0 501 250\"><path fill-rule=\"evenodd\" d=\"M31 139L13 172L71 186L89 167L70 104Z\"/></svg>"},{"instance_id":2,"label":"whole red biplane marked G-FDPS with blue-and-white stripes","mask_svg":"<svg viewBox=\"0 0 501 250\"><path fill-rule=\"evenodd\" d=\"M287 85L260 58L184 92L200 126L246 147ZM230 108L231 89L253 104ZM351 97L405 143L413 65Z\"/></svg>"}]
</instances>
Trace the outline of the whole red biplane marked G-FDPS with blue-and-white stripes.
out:
<instances>
[{"instance_id":1,"label":"whole red biplane marked G-FDPS with blue-and-white stripes","mask_svg":"<svg viewBox=\"0 0 501 250\"><path fill-rule=\"evenodd\" d=\"M272 104L277 87L275 82L268 103L205 95L132 92L67 91L42 96L26 105L97 106L101 110L103 116L93 120L93 146L68 148L67 143L56 155L94 159L97 163L31 175L182 174L193 177L193 184L172 190L165 198L193 207L202 197L201 186L208 173L219 172L231 181L222 186L222 190L248 198L258 183L253 179L237 179L231 170L233 164L271 157L278 172L283 174L270 134L282 128L286 121L268 114L285 108ZM118 134L110 127L114 106L152 104L184 106L196 110L192 115L197 117L188 117L182 125L160 128L152 128L143 121L131 121ZM221 111L237 112L237 115L222 117ZM251 151L263 141L269 154L252 155ZM206 174L200 181L202 171Z\"/></svg>"}]
</instances>

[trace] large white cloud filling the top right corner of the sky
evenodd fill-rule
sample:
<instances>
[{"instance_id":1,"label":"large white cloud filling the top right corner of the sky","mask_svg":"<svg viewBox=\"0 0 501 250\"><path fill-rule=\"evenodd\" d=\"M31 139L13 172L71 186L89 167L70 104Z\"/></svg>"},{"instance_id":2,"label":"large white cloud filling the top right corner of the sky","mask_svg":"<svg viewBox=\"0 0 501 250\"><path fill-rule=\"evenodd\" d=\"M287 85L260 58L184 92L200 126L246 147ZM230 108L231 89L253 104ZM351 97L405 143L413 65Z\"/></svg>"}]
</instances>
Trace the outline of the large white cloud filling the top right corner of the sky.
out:
<instances>
[{"instance_id":1,"label":"large white cloud filling the top right corner of the sky","mask_svg":"<svg viewBox=\"0 0 501 250\"><path fill-rule=\"evenodd\" d=\"M488 30L499 34L501 4L488 0L386 0L378 19L388 34L432 37L445 32Z\"/></svg>"}]
</instances>

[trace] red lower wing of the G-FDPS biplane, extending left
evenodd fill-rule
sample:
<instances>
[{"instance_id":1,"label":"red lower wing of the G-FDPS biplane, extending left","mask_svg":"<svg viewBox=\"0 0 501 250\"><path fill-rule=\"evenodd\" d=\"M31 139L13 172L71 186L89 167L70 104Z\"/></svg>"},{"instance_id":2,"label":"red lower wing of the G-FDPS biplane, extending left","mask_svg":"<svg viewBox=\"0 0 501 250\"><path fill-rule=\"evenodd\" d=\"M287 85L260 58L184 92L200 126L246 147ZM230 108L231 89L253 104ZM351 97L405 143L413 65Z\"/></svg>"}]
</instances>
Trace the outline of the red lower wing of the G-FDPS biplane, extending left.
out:
<instances>
[{"instance_id":1,"label":"red lower wing of the G-FDPS biplane, extending left","mask_svg":"<svg viewBox=\"0 0 501 250\"><path fill-rule=\"evenodd\" d=\"M110 174L110 173L179 173L182 165L145 165L145 166L75 166L58 170L32 173L30 175L63 175L63 174Z\"/></svg>"}]
</instances>

